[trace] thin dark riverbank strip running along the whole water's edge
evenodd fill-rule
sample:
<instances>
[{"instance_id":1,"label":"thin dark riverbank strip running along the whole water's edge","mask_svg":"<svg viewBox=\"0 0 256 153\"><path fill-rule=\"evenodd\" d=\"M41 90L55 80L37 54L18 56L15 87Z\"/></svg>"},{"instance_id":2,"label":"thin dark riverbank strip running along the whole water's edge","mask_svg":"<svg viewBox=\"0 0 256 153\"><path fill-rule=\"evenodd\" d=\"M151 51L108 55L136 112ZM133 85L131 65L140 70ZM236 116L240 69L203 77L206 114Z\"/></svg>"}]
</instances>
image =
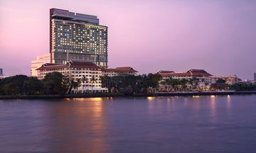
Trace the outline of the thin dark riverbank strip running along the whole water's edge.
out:
<instances>
[{"instance_id":1,"label":"thin dark riverbank strip running along the whole water's edge","mask_svg":"<svg viewBox=\"0 0 256 153\"><path fill-rule=\"evenodd\" d=\"M238 95L256 94L256 91L189 91L189 92L166 92L152 94L72 94L72 95L28 95L28 96L0 96L0 99L40 99L40 98L95 98L95 97L122 97L122 96L210 96L210 95Z\"/></svg>"}]
</instances>

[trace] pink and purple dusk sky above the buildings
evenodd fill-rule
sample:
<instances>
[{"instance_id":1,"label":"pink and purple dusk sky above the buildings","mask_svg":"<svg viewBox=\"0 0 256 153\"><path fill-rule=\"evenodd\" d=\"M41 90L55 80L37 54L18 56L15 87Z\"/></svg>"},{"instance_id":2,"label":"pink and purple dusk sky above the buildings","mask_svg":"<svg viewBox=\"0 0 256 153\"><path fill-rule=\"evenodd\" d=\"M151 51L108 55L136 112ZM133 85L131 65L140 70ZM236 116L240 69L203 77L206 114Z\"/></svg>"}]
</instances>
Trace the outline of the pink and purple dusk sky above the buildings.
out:
<instances>
[{"instance_id":1,"label":"pink and purple dusk sky above the buildings","mask_svg":"<svg viewBox=\"0 0 256 153\"><path fill-rule=\"evenodd\" d=\"M95 15L108 26L109 66L140 74L205 69L215 76L256 72L256 1L0 0L0 68L30 74L49 52L49 9Z\"/></svg>"}]
</instances>

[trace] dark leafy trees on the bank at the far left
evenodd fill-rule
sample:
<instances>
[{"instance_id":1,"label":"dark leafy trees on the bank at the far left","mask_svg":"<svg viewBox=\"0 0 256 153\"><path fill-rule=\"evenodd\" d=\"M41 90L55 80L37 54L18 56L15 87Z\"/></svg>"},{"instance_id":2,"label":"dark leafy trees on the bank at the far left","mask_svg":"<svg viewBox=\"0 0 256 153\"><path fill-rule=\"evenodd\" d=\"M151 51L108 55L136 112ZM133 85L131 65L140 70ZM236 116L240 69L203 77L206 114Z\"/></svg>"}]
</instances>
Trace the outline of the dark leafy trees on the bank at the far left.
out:
<instances>
[{"instance_id":1,"label":"dark leafy trees on the bank at the far left","mask_svg":"<svg viewBox=\"0 0 256 153\"><path fill-rule=\"evenodd\" d=\"M0 95L21 96L39 94L70 94L78 89L81 81L63 76L59 72L46 74L43 80L25 75L16 75L0 79Z\"/></svg>"}]
</instances>

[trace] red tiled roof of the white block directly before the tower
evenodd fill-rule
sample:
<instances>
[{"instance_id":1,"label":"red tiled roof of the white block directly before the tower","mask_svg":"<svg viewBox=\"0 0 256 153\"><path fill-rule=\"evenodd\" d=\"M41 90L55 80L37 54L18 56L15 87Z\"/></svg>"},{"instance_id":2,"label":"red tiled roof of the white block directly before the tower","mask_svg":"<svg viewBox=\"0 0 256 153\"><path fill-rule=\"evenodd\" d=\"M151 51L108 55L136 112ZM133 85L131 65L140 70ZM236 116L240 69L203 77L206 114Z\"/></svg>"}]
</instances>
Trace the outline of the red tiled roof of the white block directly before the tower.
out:
<instances>
[{"instance_id":1,"label":"red tiled roof of the white block directly before the tower","mask_svg":"<svg viewBox=\"0 0 256 153\"><path fill-rule=\"evenodd\" d=\"M36 70L48 70L48 69L65 69L65 68L89 68L89 69L101 69L93 62L78 62L78 61L69 61L67 64L53 64L46 63L43 64Z\"/></svg>"}]
</instances>

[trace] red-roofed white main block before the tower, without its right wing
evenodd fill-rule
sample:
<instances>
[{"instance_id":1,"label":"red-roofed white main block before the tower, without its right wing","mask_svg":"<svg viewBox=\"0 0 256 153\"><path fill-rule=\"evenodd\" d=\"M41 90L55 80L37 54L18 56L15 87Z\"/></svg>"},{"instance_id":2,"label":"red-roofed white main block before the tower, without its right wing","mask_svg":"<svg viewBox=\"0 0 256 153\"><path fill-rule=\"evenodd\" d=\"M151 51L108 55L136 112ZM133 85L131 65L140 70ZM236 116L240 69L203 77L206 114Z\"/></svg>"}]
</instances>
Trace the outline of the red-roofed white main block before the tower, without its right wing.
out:
<instances>
[{"instance_id":1,"label":"red-roofed white main block before the tower, without its right wing","mask_svg":"<svg viewBox=\"0 0 256 153\"><path fill-rule=\"evenodd\" d=\"M38 71L38 79L43 79L46 74L51 72L60 72L65 77L69 77L74 81L80 80L81 86L76 89L79 93L107 91L106 88L101 86L102 68L93 62L69 61L67 64L46 63L36 70Z\"/></svg>"}]
</instances>

